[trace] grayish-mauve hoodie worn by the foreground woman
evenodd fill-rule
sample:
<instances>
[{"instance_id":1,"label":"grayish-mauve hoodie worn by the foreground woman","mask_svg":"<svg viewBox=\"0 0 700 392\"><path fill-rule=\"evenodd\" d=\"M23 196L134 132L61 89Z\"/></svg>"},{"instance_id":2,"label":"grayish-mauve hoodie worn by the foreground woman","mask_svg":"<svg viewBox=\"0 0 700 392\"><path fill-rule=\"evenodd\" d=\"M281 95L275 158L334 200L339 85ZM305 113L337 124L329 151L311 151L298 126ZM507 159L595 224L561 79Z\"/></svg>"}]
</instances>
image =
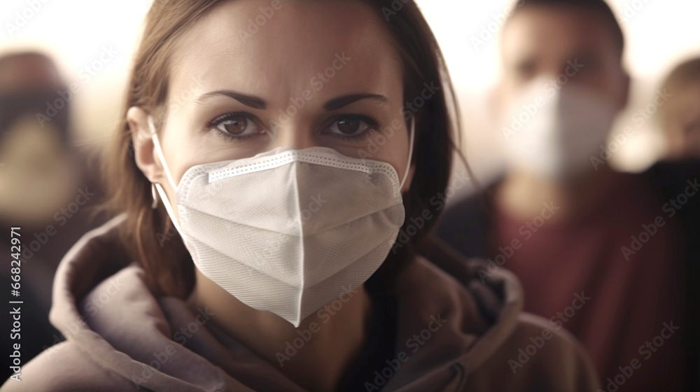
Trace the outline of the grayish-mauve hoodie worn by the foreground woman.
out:
<instances>
[{"instance_id":1,"label":"grayish-mauve hoodie worn by the foreground woman","mask_svg":"<svg viewBox=\"0 0 700 392\"><path fill-rule=\"evenodd\" d=\"M22 367L6 391L302 392L175 297L155 297L125 258L118 216L66 254L50 321L66 340ZM596 391L594 370L565 330L523 314L517 279L426 247L398 276L395 356L365 391Z\"/></svg>"}]
</instances>

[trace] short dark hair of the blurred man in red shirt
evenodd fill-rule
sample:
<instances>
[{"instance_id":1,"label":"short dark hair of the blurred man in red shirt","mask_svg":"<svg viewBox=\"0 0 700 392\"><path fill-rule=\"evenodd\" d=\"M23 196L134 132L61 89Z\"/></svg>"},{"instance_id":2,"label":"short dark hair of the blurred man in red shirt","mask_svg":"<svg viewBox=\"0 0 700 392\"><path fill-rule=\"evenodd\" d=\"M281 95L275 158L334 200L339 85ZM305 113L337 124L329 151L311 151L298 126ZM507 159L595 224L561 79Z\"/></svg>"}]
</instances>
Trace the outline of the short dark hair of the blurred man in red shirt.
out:
<instances>
[{"instance_id":1,"label":"short dark hair of the blurred man in red shirt","mask_svg":"<svg viewBox=\"0 0 700 392\"><path fill-rule=\"evenodd\" d=\"M605 28L609 31L610 38L615 43L619 57L622 58L622 53L624 52L622 28L620 28L617 18L615 18L615 13L612 12L612 9L604 0L516 0L510 18L520 10L534 7L579 8L597 13L601 16Z\"/></svg>"}]
</instances>

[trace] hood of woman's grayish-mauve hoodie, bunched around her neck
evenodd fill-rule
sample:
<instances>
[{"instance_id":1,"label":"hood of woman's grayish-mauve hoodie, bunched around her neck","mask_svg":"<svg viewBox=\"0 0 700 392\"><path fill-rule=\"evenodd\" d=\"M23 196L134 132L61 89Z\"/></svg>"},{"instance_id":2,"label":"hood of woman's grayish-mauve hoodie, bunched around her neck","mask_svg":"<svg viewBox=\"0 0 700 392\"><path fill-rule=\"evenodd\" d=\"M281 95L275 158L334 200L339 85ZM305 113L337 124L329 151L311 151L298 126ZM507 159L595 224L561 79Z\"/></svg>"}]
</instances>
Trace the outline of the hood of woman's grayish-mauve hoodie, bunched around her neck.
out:
<instances>
[{"instance_id":1,"label":"hood of woman's grayish-mauve hoodie, bunched around her neck","mask_svg":"<svg viewBox=\"0 0 700 392\"><path fill-rule=\"evenodd\" d=\"M222 342L207 309L197 314L183 300L155 297L118 241L124 218L88 232L57 270L50 321L82 355L152 391L304 391L243 345ZM395 350L410 360L386 384L377 381L381 391L462 391L512 334L519 283L503 270L482 281L479 267L435 244L400 272ZM407 346L435 323L439 331L419 349Z\"/></svg>"}]
</instances>

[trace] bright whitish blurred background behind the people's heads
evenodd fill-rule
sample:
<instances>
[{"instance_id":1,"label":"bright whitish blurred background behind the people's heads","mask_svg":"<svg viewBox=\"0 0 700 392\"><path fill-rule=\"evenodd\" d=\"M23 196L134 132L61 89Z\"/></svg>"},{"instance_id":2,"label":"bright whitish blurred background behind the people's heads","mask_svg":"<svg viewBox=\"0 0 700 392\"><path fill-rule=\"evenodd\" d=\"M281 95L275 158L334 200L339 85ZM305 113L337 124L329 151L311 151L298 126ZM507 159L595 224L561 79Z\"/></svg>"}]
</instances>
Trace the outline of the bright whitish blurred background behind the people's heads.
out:
<instances>
[{"instance_id":1,"label":"bright whitish blurred background behind the people's heads","mask_svg":"<svg viewBox=\"0 0 700 392\"><path fill-rule=\"evenodd\" d=\"M417 0L442 45L458 90L464 123L463 149L479 179L501 165L498 132L489 123L489 92L498 78L498 33L510 0ZM0 54L36 49L59 64L80 92L73 119L80 144L109 140L118 121L134 45L149 1L3 0L0 2ZM41 8L34 11L34 8ZM631 105L617 128L633 126L633 139L611 162L631 171L657 158L662 144L653 121L631 116L654 95L661 78L682 59L700 55L697 0L610 0L626 34L625 62L633 77ZM103 52L113 52L99 62ZM106 56L102 56L103 59ZM85 66L99 62L99 71Z\"/></svg>"}]
</instances>

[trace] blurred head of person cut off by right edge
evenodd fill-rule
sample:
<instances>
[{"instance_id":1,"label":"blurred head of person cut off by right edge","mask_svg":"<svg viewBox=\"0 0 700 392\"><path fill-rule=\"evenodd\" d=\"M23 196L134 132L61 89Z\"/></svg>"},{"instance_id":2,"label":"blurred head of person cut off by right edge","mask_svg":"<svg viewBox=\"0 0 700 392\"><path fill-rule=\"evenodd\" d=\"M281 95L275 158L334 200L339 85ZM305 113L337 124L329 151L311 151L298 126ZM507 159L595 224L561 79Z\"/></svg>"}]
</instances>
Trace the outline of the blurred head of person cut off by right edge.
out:
<instances>
[{"instance_id":1,"label":"blurred head of person cut off by right edge","mask_svg":"<svg viewBox=\"0 0 700 392\"><path fill-rule=\"evenodd\" d=\"M673 98L659 108L666 158L700 159L700 57L676 66L661 90Z\"/></svg>"}]
</instances>

